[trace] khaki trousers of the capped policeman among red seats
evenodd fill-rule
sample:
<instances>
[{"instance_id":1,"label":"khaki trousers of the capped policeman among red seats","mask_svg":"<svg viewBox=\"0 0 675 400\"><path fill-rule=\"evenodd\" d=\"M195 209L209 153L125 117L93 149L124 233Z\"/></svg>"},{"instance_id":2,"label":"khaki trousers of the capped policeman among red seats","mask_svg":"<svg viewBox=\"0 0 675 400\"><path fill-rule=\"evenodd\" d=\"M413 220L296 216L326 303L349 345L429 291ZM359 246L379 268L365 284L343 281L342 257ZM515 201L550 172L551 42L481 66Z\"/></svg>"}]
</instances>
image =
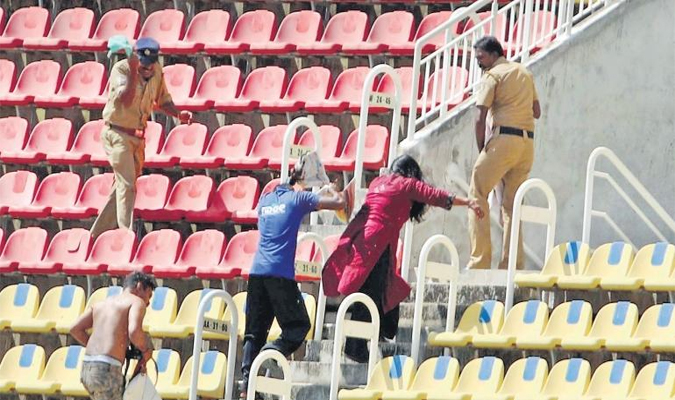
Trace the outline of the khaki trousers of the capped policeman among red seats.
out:
<instances>
[{"instance_id":1,"label":"khaki trousers of the capped policeman among red seats","mask_svg":"<svg viewBox=\"0 0 675 400\"><path fill-rule=\"evenodd\" d=\"M115 174L108 202L91 227L96 238L101 233L116 229L131 229L136 201L136 179L143 170L145 140L118 132L105 125L101 142Z\"/></svg>"}]
</instances>

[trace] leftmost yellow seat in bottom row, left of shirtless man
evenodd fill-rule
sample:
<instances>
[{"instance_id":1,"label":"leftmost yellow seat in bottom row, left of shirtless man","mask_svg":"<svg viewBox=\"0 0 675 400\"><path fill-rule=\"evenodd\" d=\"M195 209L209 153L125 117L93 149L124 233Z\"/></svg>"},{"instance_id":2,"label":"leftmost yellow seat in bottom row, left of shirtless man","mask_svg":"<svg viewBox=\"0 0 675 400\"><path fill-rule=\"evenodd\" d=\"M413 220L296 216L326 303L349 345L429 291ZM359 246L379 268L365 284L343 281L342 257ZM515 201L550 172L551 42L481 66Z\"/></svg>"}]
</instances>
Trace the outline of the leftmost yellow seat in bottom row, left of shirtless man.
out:
<instances>
[{"instance_id":1,"label":"leftmost yellow seat in bottom row, left of shirtless man","mask_svg":"<svg viewBox=\"0 0 675 400\"><path fill-rule=\"evenodd\" d=\"M12 347L0 362L0 393L17 384L37 380L45 369L45 350L35 344Z\"/></svg>"}]
</instances>

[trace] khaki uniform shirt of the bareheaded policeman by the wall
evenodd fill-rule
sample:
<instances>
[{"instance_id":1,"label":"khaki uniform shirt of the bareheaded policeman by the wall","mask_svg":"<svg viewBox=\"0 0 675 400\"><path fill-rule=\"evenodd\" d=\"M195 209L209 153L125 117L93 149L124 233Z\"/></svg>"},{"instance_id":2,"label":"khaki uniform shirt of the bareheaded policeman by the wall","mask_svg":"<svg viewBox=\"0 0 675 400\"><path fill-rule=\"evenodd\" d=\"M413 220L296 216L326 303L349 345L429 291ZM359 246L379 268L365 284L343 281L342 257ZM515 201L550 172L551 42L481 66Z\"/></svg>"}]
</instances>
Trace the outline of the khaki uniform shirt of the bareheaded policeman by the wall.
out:
<instances>
[{"instance_id":1,"label":"khaki uniform shirt of the bareheaded policeman by the wall","mask_svg":"<svg viewBox=\"0 0 675 400\"><path fill-rule=\"evenodd\" d=\"M493 125L534 131L532 105L538 100L532 74L500 57L481 78L476 105L488 107Z\"/></svg>"}]
</instances>

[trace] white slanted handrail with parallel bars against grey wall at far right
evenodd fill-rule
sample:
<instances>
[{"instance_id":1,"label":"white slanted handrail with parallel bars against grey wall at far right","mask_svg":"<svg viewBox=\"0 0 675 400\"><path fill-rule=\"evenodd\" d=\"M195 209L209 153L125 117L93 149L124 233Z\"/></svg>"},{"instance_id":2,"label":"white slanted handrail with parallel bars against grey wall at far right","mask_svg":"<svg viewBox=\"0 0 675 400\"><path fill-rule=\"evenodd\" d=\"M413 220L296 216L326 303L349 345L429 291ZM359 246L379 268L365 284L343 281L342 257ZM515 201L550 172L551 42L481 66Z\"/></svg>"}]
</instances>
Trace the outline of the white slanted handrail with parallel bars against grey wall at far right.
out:
<instances>
[{"instance_id":1,"label":"white slanted handrail with parallel bars against grey wall at far right","mask_svg":"<svg viewBox=\"0 0 675 400\"><path fill-rule=\"evenodd\" d=\"M661 204L654 198L654 196L649 193L647 188L640 183L638 178L633 175L633 173L626 167L626 165L616 156L616 154L608 149L607 147L598 147L591 153L588 158L588 165L586 167L586 192L584 195L584 219L583 219L583 232L581 240L590 245L591 239L591 222L593 217L603 218L614 231L621 237L625 242L633 245L633 242L630 240L628 235L619 228L614 219L607 214L607 212L594 210L593 209L593 194L595 192L594 181L595 178L603 179L607 181L612 189L616 191L619 196L628 204L635 214L642 220L642 222L659 238L661 241L668 241L668 238L661 232L656 225L652 222L645 212L635 203L635 201L626 193L626 191L618 184L618 182L607 172L601 172L597 170L597 162L600 158L604 158L609 161L614 168L619 172L619 174L628 182L628 184L640 195L642 200L649 206L649 208L656 213L659 219L666 224L671 233L675 234L675 221L671 218L670 215L663 209ZM622 208L621 212L625 212L625 209ZM672 238L672 236L671 236Z\"/></svg>"}]
</instances>

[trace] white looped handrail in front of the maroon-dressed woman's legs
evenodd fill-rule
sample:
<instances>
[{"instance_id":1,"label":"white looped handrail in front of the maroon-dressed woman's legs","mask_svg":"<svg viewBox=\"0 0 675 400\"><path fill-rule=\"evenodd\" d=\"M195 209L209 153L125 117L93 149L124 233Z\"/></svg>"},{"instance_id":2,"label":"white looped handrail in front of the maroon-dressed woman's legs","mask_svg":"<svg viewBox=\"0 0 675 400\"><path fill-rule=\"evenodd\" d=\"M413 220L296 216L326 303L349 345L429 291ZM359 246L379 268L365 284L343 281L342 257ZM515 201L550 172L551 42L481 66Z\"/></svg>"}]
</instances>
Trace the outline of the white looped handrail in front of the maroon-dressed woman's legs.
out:
<instances>
[{"instance_id":1,"label":"white looped handrail in front of the maroon-dressed woman's legs","mask_svg":"<svg viewBox=\"0 0 675 400\"><path fill-rule=\"evenodd\" d=\"M370 311L370 322L351 321L346 319L347 310L355 303L363 303ZM340 360L347 337L370 341L368 353L368 376L373 374L377 361L377 345L380 340L380 313L375 302L363 293L352 293L347 296L338 308L335 318L335 339L333 341L333 358L331 360L330 400L337 400L340 385Z\"/></svg>"}]
</instances>

